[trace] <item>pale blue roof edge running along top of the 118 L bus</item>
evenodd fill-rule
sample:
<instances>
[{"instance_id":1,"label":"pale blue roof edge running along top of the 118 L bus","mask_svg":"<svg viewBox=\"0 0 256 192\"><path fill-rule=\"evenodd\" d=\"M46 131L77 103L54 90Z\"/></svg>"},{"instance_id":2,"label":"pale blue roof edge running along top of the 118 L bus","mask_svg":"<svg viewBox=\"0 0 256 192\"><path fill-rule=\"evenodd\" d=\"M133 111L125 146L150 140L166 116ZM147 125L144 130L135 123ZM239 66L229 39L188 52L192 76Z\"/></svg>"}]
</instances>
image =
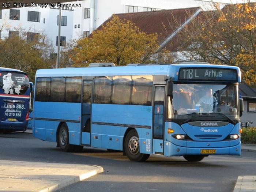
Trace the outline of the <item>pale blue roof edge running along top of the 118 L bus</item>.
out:
<instances>
[{"instance_id":1,"label":"pale blue roof edge running along top of the 118 L bus","mask_svg":"<svg viewBox=\"0 0 256 192\"><path fill-rule=\"evenodd\" d=\"M208 65L208 64L172 64L172 65L137 65L123 67L75 67L59 69L38 69L36 77L54 77L54 76L114 76L114 75L166 75L175 77L180 68L226 68L236 69L238 82L241 81L241 72L239 67L229 65Z\"/></svg>"}]
</instances>

